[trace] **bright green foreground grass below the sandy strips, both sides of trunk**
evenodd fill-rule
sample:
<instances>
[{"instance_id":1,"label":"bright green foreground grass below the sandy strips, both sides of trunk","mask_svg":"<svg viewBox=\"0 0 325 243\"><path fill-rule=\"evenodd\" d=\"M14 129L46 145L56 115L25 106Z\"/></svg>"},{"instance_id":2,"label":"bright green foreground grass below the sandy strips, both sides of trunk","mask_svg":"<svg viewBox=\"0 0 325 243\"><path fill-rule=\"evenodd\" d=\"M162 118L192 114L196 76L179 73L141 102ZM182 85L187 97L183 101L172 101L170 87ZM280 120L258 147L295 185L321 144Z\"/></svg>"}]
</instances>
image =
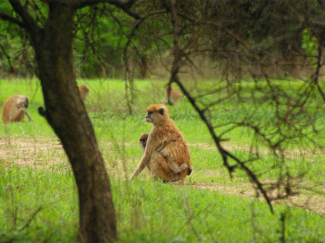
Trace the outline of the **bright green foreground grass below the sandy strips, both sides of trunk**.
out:
<instances>
[{"instance_id":1,"label":"bright green foreground grass below the sandy strips, both sides of trunk","mask_svg":"<svg viewBox=\"0 0 325 243\"><path fill-rule=\"evenodd\" d=\"M1 242L74 242L78 199L71 170L1 166ZM322 242L323 215L190 185L112 179L118 242ZM21 228L41 207L29 226Z\"/></svg>"}]
</instances>

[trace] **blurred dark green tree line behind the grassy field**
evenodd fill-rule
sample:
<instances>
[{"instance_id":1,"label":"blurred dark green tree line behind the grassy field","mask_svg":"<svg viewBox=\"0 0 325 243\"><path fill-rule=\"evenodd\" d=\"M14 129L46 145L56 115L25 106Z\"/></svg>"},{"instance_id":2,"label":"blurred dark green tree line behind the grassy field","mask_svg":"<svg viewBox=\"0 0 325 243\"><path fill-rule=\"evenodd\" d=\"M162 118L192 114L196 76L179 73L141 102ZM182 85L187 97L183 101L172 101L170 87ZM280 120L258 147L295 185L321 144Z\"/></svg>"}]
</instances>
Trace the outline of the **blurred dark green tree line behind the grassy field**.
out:
<instances>
[{"instance_id":1,"label":"blurred dark green tree line behind the grassy field","mask_svg":"<svg viewBox=\"0 0 325 243\"><path fill-rule=\"evenodd\" d=\"M26 1L25 7L44 24L46 4ZM215 68L212 77L227 77L230 73L261 75L253 52L264 60L264 70L272 77L305 75L316 65L313 56L317 55L323 29L323 9L317 1L188 1L178 7L186 54L194 58L195 65L201 62L195 58L204 58L209 69ZM8 3L0 8L13 11ZM123 77L125 64L138 78L150 74L166 77L165 72L155 71L161 65L168 66L172 53L172 30L164 3L137 1L133 8L145 16L135 21L107 4L77 11L73 54L78 77ZM4 20L0 28L1 76L37 75L26 32ZM243 49L241 44L249 45L251 50Z\"/></svg>"}]
</instances>

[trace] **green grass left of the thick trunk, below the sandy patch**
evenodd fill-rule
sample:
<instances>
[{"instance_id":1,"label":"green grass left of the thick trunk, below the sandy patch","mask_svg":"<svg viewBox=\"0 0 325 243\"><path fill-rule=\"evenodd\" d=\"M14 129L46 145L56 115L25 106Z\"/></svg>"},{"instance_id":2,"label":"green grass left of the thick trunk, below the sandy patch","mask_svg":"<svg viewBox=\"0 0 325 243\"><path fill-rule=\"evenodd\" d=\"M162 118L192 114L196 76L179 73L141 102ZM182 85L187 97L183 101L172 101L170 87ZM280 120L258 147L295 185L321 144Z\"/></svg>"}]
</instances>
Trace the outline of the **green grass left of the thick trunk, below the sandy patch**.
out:
<instances>
[{"instance_id":1,"label":"green grass left of the thick trunk, below the sandy patch","mask_svg":"<svg viewBox=\"0 0 325 243\"><path fill-rule=\"evenodd\" d=\"M48 170L1 164L0 171L0 242L75 241L78 195L64 164Z\"/></svg>"}]
</instances>

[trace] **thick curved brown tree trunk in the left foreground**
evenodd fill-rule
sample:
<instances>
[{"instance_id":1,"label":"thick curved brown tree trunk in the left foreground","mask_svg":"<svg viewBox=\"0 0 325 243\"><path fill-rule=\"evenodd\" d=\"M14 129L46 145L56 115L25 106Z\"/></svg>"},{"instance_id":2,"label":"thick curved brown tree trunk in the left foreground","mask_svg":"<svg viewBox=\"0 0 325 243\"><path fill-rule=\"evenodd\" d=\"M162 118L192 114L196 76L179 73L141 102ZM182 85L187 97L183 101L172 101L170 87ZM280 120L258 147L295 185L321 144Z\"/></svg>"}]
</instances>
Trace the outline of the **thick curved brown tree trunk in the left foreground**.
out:
<instances>
[{"instance_id":1,"label":"thick curved brown tree trunk in the left foreground","mask_svg":"<svg viewBox=\"0 0 325 243\"><path fill-rule=\"evenodd\" d=\"M78 240L112 242L116 239L116 220L110 181L77 90L72 65L75 9L64 1L53 1L49 7L40 37L32 36L46 108L42 113L58 134L76 179L80 207Z\"/></svg>"}]
</instances>

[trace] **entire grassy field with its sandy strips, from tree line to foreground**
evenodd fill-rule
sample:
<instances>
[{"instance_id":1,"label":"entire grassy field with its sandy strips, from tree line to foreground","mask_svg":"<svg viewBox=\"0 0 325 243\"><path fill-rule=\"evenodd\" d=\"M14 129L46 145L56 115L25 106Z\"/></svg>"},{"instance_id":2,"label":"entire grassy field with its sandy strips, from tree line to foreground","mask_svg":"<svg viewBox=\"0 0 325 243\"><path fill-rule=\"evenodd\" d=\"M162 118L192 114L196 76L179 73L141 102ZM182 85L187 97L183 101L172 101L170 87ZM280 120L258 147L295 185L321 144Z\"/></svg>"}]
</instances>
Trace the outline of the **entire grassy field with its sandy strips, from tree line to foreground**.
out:
<instances>
[{"instance_id":1,"label":"entire grassy field with its sandy strips, from tree line to foreground","mask_svg":"<svg viewBox=\"0 0 325 243\"><path fill-rule=\"evenodd\" d=\"M271 214L266 202L255 197L244 172L236 170L229 177L206 126L187 101L168 107L190 147L195 170L186 185L152 183L146 169L132 182L122 181L141 158L137 139L151 129L144 121L145 110L150 104L161 103L164 83L136 81L132 115L125 105L123 82L79 83L90 87L85 105L110 174L118 242L282 242L282 218L285 242L324 242L325 218L314 212L318 209L315 204L307 211L274 203L275 213ZM201 85L211 88L209 83ZM78 195L74 177L56 135L37 113L43 106L39 83L1 80L0 106L12 94L30 97L28 111L34 122L0 125L0 242L76 242ZM239 109L243 106L246 108ZM229 122L240 121L250 110L254 109L249 102L221 104L212 113L216 132L223 133ZM272 122L268 109L259 109L253 116L265 124ZM320 129L322 119L319 115ZM248 128L230 130L224 138L230 140L223 145L242 160L253 156L252 144L260 146L260 158L247 165L262 181L275 181L285 173L301 174L294 180L297 187L319 189L325 180L324 151L304 139L286 142L287 158L282 164L263 141L254 142ZM321 142L322 134L315 139ZM306 191L294 202L302 205L315 195ZM324 196L316 197L324 201ZM324 204L319 207L324 210Z\"/></svg>"}]
</instances>

